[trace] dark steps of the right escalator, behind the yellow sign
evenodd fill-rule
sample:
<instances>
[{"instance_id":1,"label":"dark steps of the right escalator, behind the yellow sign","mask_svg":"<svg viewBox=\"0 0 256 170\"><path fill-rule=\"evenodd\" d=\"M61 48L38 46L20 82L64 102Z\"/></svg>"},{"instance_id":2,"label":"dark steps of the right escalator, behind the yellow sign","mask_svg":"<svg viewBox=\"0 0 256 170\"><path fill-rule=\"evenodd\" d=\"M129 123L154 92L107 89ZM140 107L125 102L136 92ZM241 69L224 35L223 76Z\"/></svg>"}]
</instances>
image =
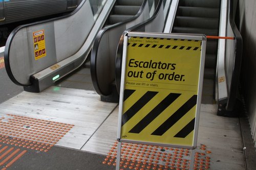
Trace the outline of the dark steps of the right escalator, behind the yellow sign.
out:
<instances>
[{"instance_id":1,"label":"dark steps of the right escalator, behind the yellow sign","mask_svg":"<svg viewBox=\"0 0 256 170\"><path fill-rule=\"evenodd\" d=\"M172 33L219 36L220 0L179 1ZM207 39L202 103L214 103L218 40Z\"/></svg>"}]
</instances>

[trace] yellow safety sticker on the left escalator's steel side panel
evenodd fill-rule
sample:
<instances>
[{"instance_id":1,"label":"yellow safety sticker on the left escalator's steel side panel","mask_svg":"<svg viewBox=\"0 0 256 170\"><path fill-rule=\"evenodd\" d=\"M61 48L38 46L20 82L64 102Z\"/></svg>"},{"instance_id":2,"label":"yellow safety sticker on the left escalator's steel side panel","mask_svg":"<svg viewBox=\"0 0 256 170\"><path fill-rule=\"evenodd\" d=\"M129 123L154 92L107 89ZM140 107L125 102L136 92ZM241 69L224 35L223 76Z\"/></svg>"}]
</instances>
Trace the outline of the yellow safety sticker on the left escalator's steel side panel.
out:
<instances>
[{"instance_id":1,"label":"yellow safety sticker on the left escalator's steel side panel","mask_svg":"<svg viewBox=\"0 0 256 170\"><path fill-rule=\"evenodd\" d=\"M34 56L38 60L46 56L45 30L33 32Z\"/></svg>"}]
</instances>

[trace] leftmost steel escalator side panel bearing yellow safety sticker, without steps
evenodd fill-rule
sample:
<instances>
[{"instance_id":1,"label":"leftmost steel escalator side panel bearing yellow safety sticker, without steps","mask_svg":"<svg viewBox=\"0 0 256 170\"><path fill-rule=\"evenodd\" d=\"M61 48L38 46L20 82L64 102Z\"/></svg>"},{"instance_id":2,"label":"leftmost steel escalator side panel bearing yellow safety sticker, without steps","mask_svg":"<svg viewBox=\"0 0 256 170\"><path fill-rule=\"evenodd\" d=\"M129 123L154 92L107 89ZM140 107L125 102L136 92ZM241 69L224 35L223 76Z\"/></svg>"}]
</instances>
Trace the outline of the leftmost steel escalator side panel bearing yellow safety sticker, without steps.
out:
<instances>
[{"instance_id":1,"label":"leftmost steel escalator side panel bearing yellow safety sticker, without steps","mask_svg":"<svg viewBox=\"0 0 256 170\"><path fill-rule=\"evenodd\" d=\"M84 0L67 16L16 28L9 36L5 49L5 65L10 79L17 85L27 86L29 91L39 92L55 83L54 76L58 75L61 79L81 66L115 0L102 2L104 4L97 6L99 9L95 15L90 1ZM46 54L39 58L35 54L33 37L37 31L44 31L43 47L46 49Z\"/></svg>"}]
</instances>

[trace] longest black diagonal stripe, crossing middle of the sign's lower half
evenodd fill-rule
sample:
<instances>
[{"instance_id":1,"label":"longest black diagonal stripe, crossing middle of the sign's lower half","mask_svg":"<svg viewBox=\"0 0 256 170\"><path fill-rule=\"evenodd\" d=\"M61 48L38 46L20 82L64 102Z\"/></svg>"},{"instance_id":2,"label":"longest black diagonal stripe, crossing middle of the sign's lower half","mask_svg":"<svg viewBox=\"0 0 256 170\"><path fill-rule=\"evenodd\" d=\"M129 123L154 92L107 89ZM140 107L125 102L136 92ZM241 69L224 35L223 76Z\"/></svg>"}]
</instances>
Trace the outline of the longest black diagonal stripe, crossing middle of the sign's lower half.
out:
<instances>
[{"instance_id":1,"label":"longest black diagonal stripe, crossing middle of the sign's lower half","mask_svg":"<svg viewBox=\"0 0 256 170\"><path fill-rule=\"evenodd\" d=\"M181 94L169 93L166 98L160 102L150 113L148 113L140 122L129 132L140 133L149 125L159 114L161 114L170 104L172 104Z\"/></svg>"}]
</instances>

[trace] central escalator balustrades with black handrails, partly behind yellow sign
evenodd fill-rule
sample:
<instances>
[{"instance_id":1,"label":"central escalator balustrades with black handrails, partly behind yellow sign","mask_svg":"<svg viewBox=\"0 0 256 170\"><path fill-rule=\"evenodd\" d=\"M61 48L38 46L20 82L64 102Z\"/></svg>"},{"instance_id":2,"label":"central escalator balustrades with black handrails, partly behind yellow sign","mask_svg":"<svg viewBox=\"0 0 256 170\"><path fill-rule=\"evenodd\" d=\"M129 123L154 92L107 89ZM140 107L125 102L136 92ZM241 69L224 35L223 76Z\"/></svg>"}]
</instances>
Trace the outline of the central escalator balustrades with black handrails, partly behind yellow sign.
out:
<instances>
[{"instance_id":1,"label":"central escalator balustrades with black handrails, partly behind yellow sign","mask_svg":"<svg viewBox=\"0 0 256 170\"><path fill-rule=\"evenodd\" d=\"M162 32L166 15L172 1L148 1L150 15L142 14L131 24L102 29L95 40L91 55L91 73L93 85L101 101L118 103L120 89L120 71L122 40L126 32ZM107 48L104 48L108 46ZM108 72L109 74L105 74Z\"/></svg>"}]
</instances>

